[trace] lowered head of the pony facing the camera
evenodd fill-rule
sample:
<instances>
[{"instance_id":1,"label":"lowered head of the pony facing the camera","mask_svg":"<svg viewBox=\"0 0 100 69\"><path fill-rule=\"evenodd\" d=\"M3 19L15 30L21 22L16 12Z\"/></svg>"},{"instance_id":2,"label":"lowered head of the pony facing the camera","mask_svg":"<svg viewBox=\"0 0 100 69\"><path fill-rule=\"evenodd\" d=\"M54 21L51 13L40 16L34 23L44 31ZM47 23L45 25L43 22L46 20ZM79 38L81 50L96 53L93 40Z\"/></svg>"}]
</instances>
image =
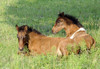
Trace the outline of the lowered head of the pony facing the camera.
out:
<instances>
[{"instance_id":1,"label":"lowered head of the pony facing the camera","mask_svg":"<svg viewBox=\"0 0 100 69\"><path fill-rule=\"evenodd\" d=\"M18 25L16 25L16 30L18 31L17 38L18 38L18 43L19 43L19 50L23 51L23 48L28 40L28 37L27 37L28 26L23 25L23 26L18 27Z\"/></svg>"}]
</instances>

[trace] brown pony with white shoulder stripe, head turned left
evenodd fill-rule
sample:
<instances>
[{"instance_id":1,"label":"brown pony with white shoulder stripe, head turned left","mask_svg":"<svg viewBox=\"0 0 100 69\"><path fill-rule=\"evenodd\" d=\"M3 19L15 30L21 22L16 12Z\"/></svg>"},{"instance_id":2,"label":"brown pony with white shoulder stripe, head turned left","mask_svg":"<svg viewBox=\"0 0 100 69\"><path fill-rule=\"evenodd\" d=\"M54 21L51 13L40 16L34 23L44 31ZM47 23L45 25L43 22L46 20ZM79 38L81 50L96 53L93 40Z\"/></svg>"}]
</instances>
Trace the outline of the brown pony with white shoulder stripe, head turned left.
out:
<instances>
[{"instance_id":1,"label":"brown pony with white shoulder stripe, head turned left","mask_svg":"<svg viewBox=\"0 0 100 69\"><path fill-rule=\"evenodd\" d=\"M62 29L65 30L67 36L66 40L63 40L59 44L59 50L62 50L63 54L68 54L68 51L67 53L64 52L66 51L65 48L68 44L71 44L72 46L74 44L78 45L82 40L85 40L87 49L91 49L92 46L95 47L95 40L86 33L86 30L80 24L78 19L67 14L64 15L64 12L58 15L56 23L52 28L52 32L55 34ZM75 45L73 47L75 47Z\"/></svg>"}]
</instances>

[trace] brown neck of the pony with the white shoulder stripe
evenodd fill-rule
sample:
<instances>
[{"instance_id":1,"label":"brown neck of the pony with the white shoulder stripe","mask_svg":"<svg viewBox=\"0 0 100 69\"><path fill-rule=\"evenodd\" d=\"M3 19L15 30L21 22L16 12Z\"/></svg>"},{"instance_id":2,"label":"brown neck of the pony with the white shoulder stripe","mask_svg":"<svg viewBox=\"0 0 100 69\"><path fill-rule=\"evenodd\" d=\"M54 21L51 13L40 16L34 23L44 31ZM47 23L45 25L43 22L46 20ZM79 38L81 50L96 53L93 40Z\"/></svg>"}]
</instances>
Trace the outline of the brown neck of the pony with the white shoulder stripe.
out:
<instances>
[{"instance_id":1,"label":"brown neck of the pony with the white shoulder stripe","mask_svg":"<svg viewBox=\"0 0 100 69\"><path fill-rule=\"evenodd\" d=\"M66 25L64 28L67 37L72 36L78 29L79 27L75 25L72 21L70 21L70 25Z\"/></svg>"}]
</instances>

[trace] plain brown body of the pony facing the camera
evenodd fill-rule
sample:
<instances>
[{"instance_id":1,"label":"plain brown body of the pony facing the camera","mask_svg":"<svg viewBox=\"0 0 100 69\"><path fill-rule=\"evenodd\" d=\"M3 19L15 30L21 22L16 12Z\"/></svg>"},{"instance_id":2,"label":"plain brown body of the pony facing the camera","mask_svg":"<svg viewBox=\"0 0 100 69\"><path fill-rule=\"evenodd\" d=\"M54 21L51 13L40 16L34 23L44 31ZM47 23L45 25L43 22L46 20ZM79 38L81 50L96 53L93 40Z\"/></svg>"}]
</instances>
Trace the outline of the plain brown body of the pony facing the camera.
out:
<instances>
[{"instance_id":1,"label":"plain brown body of the pony facing the camera","mask_svg":"<svg viewBox=\"0 0 100 69\"><path fill-rule=\"evenodd\" d=\"M55 47L54 52L56 53L59 42L65 39L47 37L35 34L34 32L29 33L29 38L29 50L37 54L46 54L47 52L51 52L53 47Z\"/></svg>"}]
</instances>

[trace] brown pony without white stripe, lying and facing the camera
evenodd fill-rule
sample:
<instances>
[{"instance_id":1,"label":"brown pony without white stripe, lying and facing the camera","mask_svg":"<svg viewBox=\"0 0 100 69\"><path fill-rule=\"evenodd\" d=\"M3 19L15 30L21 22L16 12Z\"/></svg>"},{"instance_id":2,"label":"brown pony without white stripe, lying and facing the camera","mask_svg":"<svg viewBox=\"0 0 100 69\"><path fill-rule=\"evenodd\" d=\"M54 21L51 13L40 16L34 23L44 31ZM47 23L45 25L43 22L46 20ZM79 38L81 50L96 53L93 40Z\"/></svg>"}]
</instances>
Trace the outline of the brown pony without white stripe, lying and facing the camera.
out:
<instances>
[{"instance_id":1,"label":"brown pony without white stripe, lying and facing the camera","mask_svg":"<svg viewBox=\"0 0 100 69\"><path fill-rule=\"evenodd\" d=\"M27 44L29 52L33 55L47 54L52 51L53 47L57 49L59 42L65 39L47 37L27 25L20 27L16 25L16 29L18 31L19 50L23 51L24 46ZM57 50L54 50L54 53L60 55Z\"/></svg>"}]
</instances>

